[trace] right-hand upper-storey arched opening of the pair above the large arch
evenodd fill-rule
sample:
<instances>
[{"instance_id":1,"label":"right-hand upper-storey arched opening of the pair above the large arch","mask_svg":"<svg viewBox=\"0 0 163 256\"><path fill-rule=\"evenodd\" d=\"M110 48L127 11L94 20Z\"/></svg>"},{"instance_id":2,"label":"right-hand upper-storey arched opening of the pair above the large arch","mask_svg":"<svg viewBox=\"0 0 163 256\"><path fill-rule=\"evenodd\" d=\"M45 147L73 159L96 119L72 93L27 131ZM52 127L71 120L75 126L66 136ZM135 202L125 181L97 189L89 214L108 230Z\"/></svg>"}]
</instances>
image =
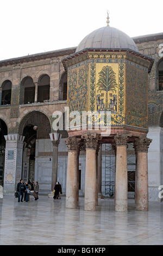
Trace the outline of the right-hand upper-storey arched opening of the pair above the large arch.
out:
<instances>
[{"instance_id":1,"label":"right-hand upper-storey arched opening of the pair above the large arch","mask_svg":"<svg viewBox=\"0 0 163 256\"><path fill-rule=\"evenodd\" d=\"M37 101L45 102L49 100L50 90L50 77L48 75L42 75L39 78Z\"/></svg>"}]
</instances>

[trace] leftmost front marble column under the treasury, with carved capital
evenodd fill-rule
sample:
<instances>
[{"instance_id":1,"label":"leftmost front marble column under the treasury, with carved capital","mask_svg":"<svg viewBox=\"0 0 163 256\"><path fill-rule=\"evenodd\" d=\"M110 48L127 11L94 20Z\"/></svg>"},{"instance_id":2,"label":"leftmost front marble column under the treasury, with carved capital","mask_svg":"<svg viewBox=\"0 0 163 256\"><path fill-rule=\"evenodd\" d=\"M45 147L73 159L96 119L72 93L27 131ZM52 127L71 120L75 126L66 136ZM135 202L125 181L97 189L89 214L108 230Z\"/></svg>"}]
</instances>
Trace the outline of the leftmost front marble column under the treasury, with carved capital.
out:
<instances>
[{"instance_id":1,"label":"leftmost front marble column under the treasury, with carved capital","mask_svg":"<svg viewBox=\"0 0 163 256\"><path fill-rule=\"evenodd\" d=\"M80 138L68 137L65 143L68 147L66 208L77 208L79 193L79 148Z\"/></svg>"}]
</instances>

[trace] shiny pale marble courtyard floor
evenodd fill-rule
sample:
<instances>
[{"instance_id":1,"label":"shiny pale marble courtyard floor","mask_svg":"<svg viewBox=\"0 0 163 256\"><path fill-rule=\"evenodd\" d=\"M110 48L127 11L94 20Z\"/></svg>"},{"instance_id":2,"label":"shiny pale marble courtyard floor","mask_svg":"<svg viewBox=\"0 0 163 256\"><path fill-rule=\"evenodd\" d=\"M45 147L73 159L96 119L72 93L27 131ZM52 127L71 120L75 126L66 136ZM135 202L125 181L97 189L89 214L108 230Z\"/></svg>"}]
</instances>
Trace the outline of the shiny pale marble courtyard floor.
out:
<instances>
[{"instance_id":1,"label":"shiny pale marble courtyard floor","mask_svg":"<svg viewBox=\"0 0 163 256\"><path fill-rule=\"evenodd\" d=\"M99 199L96 211L65 208L65 197L17 202L0 199L0 245L163 245L163 202L149 202L137 211L134 199L128 212L115 212L114 199Z\"/></svg>"}]
</instances>

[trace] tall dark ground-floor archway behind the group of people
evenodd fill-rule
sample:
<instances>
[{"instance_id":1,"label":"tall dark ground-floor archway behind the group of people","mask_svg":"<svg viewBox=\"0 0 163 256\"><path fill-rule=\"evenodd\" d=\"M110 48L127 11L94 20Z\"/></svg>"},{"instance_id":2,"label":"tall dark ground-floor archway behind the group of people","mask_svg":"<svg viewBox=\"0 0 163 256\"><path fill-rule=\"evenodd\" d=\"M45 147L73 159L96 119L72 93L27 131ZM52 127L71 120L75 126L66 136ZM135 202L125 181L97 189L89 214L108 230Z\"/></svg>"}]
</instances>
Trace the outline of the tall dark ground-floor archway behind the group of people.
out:
<instances>
[{"instance_id":1,"label":"tall dark ground-floor archway behind the group of people","mask_svg":"<svg viewBox=\"0 0 163 256\"><path fill-rule=\"evenodd\" d=\"M18 133L25 137L23 147L22 177L27 181L29 179L38 180L39 173L35 172L35 166L38 166L39 164L39 170L43 169L40 159L42 160L42 158L46 156L46 153L43 152L39 155L39 148L42 147L41 150L44 151L45 149L42 146L43 143L45 143L47 139L49 143L49 133L51 133L51 124L49 119L42 112L30 112L22 119ZM36 162L37 164L35 164ZM46 163L43 162L43 164Z\"/></svg>"}]
</instances>

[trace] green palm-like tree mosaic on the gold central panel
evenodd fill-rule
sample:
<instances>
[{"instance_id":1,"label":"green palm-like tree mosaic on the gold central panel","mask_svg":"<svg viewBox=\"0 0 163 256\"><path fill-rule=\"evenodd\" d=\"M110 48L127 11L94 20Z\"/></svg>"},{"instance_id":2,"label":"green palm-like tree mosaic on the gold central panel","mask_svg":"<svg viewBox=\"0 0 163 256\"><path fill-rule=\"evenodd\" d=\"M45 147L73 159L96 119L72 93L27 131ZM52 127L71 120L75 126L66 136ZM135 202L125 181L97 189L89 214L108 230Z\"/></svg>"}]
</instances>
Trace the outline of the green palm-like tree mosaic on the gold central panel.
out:
<instances>
[{"instance_id":1,"label":"green palm-like tree mosaic on the gold central panel","mask_svg":"<svg viewBox=\"0 0 163 256\"><path fill-rule=\"evenodd\" d=\"M116 93L116 76L115 72L112 70L111 66L104 66L99 72L99 79L97 83L97 92L106 92L105 98L105 108L108 108L108 93L115 92Z\"/></svg>"}]
</instances>

